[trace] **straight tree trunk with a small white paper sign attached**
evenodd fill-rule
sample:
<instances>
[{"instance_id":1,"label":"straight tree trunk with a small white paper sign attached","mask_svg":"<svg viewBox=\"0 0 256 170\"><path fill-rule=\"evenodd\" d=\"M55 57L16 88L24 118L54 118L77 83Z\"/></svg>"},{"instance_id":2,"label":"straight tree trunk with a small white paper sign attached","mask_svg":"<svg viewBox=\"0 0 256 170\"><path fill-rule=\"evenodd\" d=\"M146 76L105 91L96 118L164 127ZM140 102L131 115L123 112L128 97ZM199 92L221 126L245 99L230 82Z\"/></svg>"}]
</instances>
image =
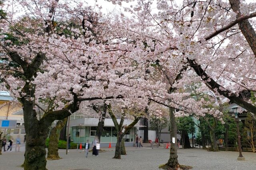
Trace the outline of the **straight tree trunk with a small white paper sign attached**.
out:
<instances>
[{"instance_id":1,"label":"straight tree trunk with a small white paper sign attached","mask_svg":"<svg viewBox=\"0 0 256 170\"><path fill-rule=\"evenodd\" d=\"M171 146L170 146L170 158L168 162L165 164L167 168L178 168L180 165L178 163L178 154L177 154L177 126L174 117L175 110L169 108L170 114L170 137L171 137ZM175 138L175 143L172 143L172 138ZM166 167L165 167L166 168ZM167 169L166 168L166 169Z\"/></svg>"}]
</instances>

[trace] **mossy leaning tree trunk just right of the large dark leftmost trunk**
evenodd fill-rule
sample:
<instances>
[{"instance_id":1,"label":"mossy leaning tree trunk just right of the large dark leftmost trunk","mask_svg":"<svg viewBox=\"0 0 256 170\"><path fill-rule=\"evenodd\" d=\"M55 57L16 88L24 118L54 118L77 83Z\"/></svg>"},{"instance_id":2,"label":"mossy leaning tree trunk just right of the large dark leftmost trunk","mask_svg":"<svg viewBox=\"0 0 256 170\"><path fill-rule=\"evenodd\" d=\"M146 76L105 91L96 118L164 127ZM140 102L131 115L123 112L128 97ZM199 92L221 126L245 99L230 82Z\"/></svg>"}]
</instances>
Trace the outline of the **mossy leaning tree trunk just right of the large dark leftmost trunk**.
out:
<instances>
[{"instance_id":1,"label":"mossy leaning tree trunk just right of the large dark leftmost trunk","mask_svg":"<svg viewBox=\"0 0 256 170\"><path fill-rule=\"evenodd\" d=\"M49 160L56 160L60 159L58 154L58 142L60 138L60 131L66 125L67 118L60 120L57 122L56 127L52 128L49 136L49 146L48 146L48 153L47 159Z\"/></svg>"}]
</instances>

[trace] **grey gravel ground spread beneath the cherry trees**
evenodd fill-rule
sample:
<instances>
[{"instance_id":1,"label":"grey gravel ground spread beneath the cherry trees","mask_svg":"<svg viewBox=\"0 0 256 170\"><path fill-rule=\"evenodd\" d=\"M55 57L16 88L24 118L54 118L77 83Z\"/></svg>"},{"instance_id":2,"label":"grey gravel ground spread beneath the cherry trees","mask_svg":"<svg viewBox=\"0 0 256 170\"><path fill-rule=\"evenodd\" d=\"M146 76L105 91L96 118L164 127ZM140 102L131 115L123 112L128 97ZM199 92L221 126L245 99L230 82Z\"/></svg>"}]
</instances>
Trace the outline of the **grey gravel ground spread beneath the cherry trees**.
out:
<instances>
[{"instance_id":1,"label":"grey gravel ground spread beneath the cherry trees","mask_svg":"<svg viewBox=\"0 0 256 170\"><path fill-rule=\"evenodd\" d=\"M66 155L65 150L59 150L60 160L48 160L48 170L157 170L160 164L167 162L169 150L164 148L127 147L127 155L122 155L121 160L112 159L114 148L102 148L106 152L98 157L89 152L88 158L81 150L70 150ZM178 149L178 160L182 165L190 165L193 170L255 170L256 154L243 152L245 161L238 161L239 152L208 152L199 148ZM3 152L0 155L0 170L21 170L24 161L24 151Z\"/></svg>"}]
</instances>

